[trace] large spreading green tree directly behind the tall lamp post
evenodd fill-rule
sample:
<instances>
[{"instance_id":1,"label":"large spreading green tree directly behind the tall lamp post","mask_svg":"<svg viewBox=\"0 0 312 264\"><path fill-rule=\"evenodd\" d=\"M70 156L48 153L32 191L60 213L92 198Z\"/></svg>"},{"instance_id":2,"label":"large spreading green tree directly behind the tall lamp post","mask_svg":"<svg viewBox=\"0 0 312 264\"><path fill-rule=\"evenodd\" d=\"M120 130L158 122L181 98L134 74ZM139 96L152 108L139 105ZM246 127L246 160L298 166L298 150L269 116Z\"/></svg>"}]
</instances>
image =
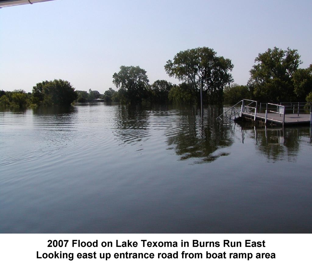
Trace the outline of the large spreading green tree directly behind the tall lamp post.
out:
<instances>
[{"instance_id":1,"label":"large spreading green tree directly behind the tall lamp post","mask_svg":"<svg viewBox=\"0 0 312 264\"><path fill-rule=\"evenodd\" d=\"M233 67L230 59L218 57L213 49L201 47L180 51L173 61L167 61L165 70L170 77L188 83L197 100L202 84L206 101L222 102L223 88L233 81L230 73Z\"/></svg>"}]
</instances>

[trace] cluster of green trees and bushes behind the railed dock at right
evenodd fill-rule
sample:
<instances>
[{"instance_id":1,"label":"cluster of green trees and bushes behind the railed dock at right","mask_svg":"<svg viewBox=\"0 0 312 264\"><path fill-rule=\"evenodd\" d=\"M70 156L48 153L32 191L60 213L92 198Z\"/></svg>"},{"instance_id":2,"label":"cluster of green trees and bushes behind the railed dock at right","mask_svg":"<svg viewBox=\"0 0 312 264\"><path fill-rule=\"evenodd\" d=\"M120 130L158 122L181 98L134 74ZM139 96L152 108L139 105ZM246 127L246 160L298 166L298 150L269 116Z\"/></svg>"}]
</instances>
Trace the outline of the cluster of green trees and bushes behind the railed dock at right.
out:
<instances>
[{"instance_id":1,"label":"cluster of green trees and bushes behind the railed dock at right","mask_svg":"<svg viewBox=\"0 0 312 264\"><path fill-rule=\"evenodd\" d=\"M236 103L241 98L261 102L311 102L312 64L302 64L296 49L274 47L259 53L246 85L232 84L224 90L224 99Z\"/></svg>"}]
</instances>

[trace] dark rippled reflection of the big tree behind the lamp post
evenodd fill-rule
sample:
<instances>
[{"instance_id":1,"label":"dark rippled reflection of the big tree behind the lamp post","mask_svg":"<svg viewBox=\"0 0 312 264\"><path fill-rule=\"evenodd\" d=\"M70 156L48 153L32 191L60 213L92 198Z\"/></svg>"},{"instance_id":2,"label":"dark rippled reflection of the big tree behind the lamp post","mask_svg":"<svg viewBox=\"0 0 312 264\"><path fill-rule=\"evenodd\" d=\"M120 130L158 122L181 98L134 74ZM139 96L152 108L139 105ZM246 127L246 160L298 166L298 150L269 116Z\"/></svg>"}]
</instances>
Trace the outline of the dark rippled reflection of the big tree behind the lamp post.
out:
<instances>
[{"instance_id":1,"label":"dark rippled reflection of the big tree behind the lamp post","mask_svg":"<svg viewBox=\"0 0 312 264\"><path fill-rule=\"evenodd\" d=\"M222 150L233 144L229 126L216 120L222 109L209 106L203 119L200 111L190 107L177 117L177 130L167 131L167 144L173 146L181 160L196 158L194 163L212 162L220 156L229 155Z\"/></svg>"}]
</instances>

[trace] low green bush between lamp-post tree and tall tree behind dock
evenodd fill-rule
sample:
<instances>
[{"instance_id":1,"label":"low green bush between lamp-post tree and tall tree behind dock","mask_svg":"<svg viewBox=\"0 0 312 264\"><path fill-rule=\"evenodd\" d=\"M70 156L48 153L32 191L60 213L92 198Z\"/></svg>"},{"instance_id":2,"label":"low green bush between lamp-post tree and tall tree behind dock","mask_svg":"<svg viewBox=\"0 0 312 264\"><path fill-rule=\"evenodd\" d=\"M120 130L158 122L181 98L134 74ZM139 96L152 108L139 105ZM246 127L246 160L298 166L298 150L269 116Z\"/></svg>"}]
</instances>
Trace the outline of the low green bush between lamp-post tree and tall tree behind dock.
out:
<instances>
[{"instance_id":1,"label":"low green bush between lamp-post tree and tall tree behind dock","mask_svg":"<svg viewBox=\"0 0 312 264\"><path fill-rule=\"evenodd\" d=\"M223 90L223 99L225 103L234 105L244 98L250 98L250 93L246 85L232 83L229 87L227 86Z\"/></svg>"}]
</instances>

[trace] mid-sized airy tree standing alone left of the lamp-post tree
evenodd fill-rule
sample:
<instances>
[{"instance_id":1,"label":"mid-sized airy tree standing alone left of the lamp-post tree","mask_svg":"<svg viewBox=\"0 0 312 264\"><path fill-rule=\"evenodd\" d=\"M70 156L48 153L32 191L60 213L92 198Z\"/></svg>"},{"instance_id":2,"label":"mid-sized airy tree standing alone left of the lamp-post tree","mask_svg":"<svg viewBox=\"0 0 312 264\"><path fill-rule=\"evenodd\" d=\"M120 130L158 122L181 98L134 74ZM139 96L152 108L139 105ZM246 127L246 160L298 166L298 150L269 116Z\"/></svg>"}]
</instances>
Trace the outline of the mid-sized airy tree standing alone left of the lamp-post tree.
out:
<instances>
[{"instance_id":1,"label":"mid-sized airy tree standing alone left of the lamp-post tree","mask_svg":"<svg viewBox=\"0 0 312 264\"><path fill-rule=\"evenodd\" d=\"M137 104L148 97L149 79L139 66L120 66L120 71L113 75L113 83L119 88L121 101Z\"/></svg>"}]
</instances>

